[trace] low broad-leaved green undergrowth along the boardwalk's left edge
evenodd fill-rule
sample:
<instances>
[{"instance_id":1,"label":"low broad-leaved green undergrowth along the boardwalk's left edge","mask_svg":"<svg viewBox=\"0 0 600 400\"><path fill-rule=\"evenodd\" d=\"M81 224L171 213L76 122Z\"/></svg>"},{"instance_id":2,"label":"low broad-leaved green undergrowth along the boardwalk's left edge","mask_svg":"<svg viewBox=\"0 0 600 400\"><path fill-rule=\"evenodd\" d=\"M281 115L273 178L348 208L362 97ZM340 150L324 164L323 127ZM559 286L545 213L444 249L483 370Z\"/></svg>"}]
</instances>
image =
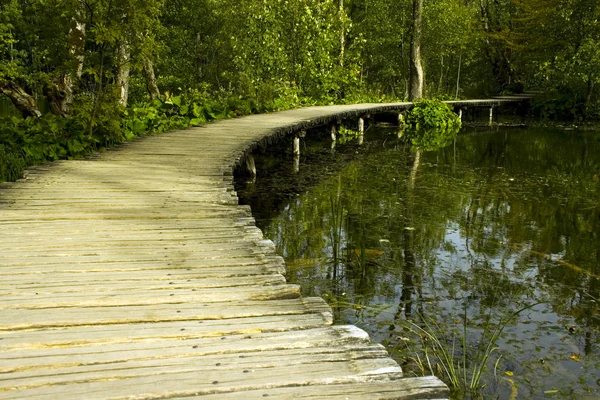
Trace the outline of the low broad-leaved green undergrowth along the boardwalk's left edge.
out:
<instances>
[{"instance_id":1,"label":"low broad-leaved green undergrowth along the boardwalk's left edge","mask_svg":"<svg viewBox=\"0 0 600 400\"><path fill-rule=\"evenodd\" d=\"M117 101L104 102L94 108L94 101L82 95L76 99L73 116L68 118L50 113L41 118L0 117L0 182L19 179L32 165L81 158L151 133L332 102L328 98L315 100L298 93L292 87L263 89L250 95L190 89L177 95L166 92L160 99L133 104L126 109L118 106ZM391 100L354 96L341 101L350 103L359 99Z\"/></svg>"}]
</instances>

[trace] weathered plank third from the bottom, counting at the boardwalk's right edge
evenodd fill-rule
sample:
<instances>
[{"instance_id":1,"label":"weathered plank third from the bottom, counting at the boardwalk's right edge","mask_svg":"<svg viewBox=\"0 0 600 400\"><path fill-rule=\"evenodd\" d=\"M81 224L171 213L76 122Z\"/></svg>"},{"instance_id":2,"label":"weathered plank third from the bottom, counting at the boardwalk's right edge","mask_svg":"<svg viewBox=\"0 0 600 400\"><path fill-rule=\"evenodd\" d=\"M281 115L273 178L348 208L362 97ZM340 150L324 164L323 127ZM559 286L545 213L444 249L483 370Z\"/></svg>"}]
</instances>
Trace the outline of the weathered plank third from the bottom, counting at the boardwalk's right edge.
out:
<instances>
[{"instance_id":1,"label":"weathered plank third from the bottom, counting at the boardwalk's right edge","mask_svg":"<svg viewBox=\"0 0 600 400\"><path fill-rule=\"evenodd\" d=\"M174 370L192 370L202 374L220 368L221 373L232 370L265 370L282 366L292 366L312 363L342 363L363 359L375 359L375 363L382 363L386 367L393 366L387 358L387 351L382 346L372 344L333 345L331 347L304 347L297 349L278 348L276 350L262 350L258 352L240 353L209 353L206 350L188 346L182 352L166 356L156 356L149 352L133 354L98 353L88 358L86 355L78 357L79 362L34 365L30 368L16 368L0 375L0 392L11 390L18 386L64 385L73 381L86 381L90 379L103 380L117 377L129 379L140 375L165 374ZM241 357L240 357L241 355ZM116 356L116 357L115 357ZM133 357L133 358L131 358ZM73 360L73 359L71 359ZM45 360L44 360L45 361ZM397 366L396 366L397 367ZM60 368L60 374L53 370ZM398 368L398 367L397 367ZM139 371L143 371L140 373ZM401 370L397 369L401 374Z\"/></svg>"}]
</instances>

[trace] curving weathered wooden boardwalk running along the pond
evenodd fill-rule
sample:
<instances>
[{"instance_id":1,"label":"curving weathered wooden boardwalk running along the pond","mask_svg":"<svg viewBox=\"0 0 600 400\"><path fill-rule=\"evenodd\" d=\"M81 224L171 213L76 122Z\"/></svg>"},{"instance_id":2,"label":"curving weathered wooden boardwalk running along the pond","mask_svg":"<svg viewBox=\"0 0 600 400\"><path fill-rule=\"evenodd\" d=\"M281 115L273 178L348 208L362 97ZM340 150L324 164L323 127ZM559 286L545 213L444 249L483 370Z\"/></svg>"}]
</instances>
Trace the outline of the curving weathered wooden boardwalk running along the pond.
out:
<instances>
[{"instance_id":1,"label":"curving weathered wooden boardwalk running along the pond","mask_svg":"<svg viewBox=\"0 0 600 400\"><path fill-rule=\"evenodd\" d=\"M448 396L286 283L231 177L271 138L406 107L224 120L1 184L0 399Z\"/></svg>"}]
</instances>

